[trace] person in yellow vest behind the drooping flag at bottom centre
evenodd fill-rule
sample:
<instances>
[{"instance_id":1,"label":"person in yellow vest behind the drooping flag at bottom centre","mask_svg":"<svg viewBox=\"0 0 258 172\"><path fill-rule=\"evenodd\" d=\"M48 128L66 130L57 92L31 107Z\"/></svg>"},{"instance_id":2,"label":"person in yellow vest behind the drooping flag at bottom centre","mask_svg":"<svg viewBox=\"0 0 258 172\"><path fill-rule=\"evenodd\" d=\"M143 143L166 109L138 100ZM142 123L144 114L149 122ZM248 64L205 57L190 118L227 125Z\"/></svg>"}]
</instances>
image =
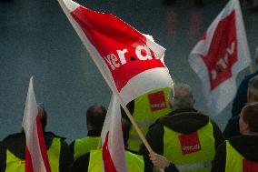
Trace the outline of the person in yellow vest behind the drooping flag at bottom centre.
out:
<instances>
[{"instance_id":1,"label":"person in yellow vest behind the drooping flag at bottom centre","mask_svg":"<svg viewBox=\"0 0 258 172\"><path fill-rule=\"evenodd\" d=\"M136 154L134 151L128 150L126 147L126 141L129 137L130 123L127 119L122 118L123 137L124 137L124 156L128 172L144 172L144 157ZM74 161L72 172L102 172L103 160L102 149L91 150L89 153L78 157Z\"/></svg>"}]
</instances>

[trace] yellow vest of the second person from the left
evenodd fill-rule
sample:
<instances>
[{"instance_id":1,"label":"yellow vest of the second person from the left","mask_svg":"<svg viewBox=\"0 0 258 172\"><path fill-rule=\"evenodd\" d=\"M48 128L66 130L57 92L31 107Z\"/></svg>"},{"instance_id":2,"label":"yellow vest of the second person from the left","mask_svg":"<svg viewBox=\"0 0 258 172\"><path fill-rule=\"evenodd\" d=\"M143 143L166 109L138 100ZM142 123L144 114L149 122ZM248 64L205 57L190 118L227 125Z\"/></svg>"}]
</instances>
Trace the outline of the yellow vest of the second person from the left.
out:
<instances>
[{"instance_id":1,"label":"yellow vest of the second person from the left","mask_svg":"<svg viewBox=\"0 0 258 172\"><path fill-rule=\"evenodd\" d=\"M97 148L100 137L84 137L74 141L74 160Z\"/></svg>"}]
</instances>

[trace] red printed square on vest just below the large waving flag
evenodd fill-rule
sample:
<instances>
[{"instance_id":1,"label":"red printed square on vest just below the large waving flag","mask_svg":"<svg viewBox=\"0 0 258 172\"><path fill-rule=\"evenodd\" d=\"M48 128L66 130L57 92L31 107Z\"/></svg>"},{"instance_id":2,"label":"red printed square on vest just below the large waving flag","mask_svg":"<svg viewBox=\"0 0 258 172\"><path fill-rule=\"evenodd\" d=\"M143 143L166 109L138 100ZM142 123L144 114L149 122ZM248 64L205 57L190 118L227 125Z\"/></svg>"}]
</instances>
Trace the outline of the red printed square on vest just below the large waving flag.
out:
<instances>
[{"instance_id":1,"label":"red printed square on vest just below the large waving flag","mask_svg":"<svg viewBox=\"0 0 258 172\"><path fill-rule=\"evenodd\" d=\"M159 91L148 95L152 112L166 108L164 91Z\"/></svg>"}]
</instances>

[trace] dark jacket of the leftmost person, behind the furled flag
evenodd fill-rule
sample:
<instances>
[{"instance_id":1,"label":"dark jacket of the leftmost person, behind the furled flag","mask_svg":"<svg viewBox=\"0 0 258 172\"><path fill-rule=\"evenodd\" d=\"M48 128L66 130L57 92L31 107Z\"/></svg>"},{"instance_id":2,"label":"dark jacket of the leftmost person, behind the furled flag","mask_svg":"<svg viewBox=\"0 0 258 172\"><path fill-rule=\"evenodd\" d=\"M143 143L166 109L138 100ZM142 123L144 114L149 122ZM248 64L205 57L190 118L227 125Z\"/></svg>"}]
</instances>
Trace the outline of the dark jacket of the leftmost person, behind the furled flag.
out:
<instances>
[{"instance_id":1,"label":"dark jacket of the leftmost person, behind the furled flag","mask_svg":"<svg viewBox=\"0 0 258 172\"><path fill-rule=\"evenodd\" d=\"M52 145L52 141L55 134L51 132L45 132L45 146L48 149ZM61 138L61 152L59 159L59 171L69 172L73 163L73 157L70 153L68 145L64 141L64 137ZM0 146L0 172L4 172L6 168L6 149L12 152L15 157L25 159L25 134L16 133L5 137Z\"/></svg>"}]
</instances>

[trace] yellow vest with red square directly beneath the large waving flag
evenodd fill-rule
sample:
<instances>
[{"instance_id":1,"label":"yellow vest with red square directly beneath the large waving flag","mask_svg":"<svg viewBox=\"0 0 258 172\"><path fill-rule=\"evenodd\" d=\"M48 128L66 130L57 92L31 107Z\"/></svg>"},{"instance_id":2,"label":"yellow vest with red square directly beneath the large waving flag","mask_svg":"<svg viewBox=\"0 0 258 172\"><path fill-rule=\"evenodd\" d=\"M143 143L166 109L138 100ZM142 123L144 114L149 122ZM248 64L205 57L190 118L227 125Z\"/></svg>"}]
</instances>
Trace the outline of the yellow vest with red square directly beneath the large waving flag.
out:
<instances>
[{"instance_id":1,"label":"yellow vest with red square directly beneath the large waving flag","mask_svg":"<svg viewBox=\"0 0 258 172\"><path fill-rule=\"evenodd\" d=\"M134 120L146 135L155 120L171 112L168 97L170 88L157 89L134 99ZM128 148L139 151L142 141L133 126L130 128Z\"/></svg>"}]
</instances>

